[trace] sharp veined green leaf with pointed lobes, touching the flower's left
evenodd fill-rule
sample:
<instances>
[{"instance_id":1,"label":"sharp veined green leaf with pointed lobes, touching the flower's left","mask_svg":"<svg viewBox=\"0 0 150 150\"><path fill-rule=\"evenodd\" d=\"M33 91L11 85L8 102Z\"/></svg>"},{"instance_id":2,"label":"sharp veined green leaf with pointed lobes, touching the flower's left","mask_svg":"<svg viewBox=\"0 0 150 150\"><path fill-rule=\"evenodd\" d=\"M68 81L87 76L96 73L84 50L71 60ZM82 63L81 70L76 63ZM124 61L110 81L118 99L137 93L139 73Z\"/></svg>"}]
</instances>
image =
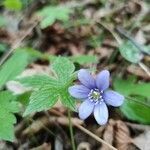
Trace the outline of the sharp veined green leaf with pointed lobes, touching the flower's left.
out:
<instances>
[{"instance_id":1,"label":"sharp veined green leaf with pointed lobes, touching the flower's left","mask_svg":"<svg viewBox=\"0 0 150 150\"><path fill-rule=\"evenodd\" d=\"M23 85L34 89L24 115L50 109L58 99L64 106L75 109L75 101L68 93L68 87L75 78L73 63L67 58L58 57L51 70L54 76L34 75L18 79Z\"/></svg>"}]
</instances>

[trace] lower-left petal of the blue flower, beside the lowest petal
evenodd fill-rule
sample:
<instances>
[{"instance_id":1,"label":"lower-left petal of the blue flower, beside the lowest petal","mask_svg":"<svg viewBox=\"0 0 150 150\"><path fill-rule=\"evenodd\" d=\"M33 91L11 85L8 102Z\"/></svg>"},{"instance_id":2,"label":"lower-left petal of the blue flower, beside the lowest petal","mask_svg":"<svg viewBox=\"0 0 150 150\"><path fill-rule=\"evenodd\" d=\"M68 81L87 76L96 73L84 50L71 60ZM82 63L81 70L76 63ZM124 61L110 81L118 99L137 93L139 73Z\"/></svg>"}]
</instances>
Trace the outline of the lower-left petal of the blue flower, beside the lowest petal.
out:
<instances>
[{"instance_id":1,"label":"lower-left petal of the blue flower, beside the lowest petal","mask_svg":"<svg viewBox=\"0 0 150 150\"><path fill-rule=\"evenodd\" d=\"M90 100L85 100L80 106L79 106L79 117L81 119L86 119L90 116L90 114L93 112L94 109L94 103L92 103Z\"/></svg>"}]
</instances>

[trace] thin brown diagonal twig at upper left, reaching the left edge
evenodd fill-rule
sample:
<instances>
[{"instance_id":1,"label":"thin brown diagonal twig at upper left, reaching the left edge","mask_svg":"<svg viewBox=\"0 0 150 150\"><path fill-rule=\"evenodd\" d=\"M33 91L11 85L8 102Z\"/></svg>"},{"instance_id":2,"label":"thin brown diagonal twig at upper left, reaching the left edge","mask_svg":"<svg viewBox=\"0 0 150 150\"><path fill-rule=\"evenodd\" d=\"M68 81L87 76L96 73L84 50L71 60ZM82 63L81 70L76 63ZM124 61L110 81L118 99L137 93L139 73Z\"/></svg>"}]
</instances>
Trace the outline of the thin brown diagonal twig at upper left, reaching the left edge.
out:
<instances>
[{"instance_id":1,"label":"thin brown diagonal twig at upper left, reaching the left edge","mask_svg":"<svg viewBox=\"0 0 150 150\"><path fill-rule=\"evenodd\" d=\"M0 66L11 55L11 53L21 45L22 41L31 33L31 31L37 26L37 24L38 24L38 21L35 22L33 26L21 38L19 38L18 41L14 45L12 45L11 49L3 55L2 59L0 60Z\"/></svg>"}]
</instances>

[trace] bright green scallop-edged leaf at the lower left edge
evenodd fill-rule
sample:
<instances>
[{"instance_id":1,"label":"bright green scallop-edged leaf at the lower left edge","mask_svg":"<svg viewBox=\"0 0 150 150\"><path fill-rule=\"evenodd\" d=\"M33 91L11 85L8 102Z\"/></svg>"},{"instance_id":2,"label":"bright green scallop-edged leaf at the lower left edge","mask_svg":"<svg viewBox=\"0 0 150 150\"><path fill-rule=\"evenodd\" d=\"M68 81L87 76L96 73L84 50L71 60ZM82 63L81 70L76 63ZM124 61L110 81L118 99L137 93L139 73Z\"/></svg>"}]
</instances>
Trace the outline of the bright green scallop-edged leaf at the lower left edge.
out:
<instances>
[{"instance_id":1,"label":"bright green scallop-edged leaf at the lower left edge","mask_svg":"<svg viewBox=\"0 0 150 150\"><path fill-rule=\"evenodd\" d=\"M8 91L0 92L0 139L13 141L16 118L13 113L19 111L19 105Z\"/></svg>"}]
</instances>

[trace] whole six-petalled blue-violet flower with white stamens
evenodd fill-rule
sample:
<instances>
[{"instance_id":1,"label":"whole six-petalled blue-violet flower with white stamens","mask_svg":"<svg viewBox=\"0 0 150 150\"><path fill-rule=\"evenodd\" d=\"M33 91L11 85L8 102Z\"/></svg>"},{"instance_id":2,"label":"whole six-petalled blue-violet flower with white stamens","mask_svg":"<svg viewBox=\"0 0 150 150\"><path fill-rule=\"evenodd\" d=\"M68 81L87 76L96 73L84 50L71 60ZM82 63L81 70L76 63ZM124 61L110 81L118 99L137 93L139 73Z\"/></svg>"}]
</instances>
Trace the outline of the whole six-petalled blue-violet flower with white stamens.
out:
<instances>
[{"instance_id":1,"label":"whole six-petalled blue-violet flower with white stamens","mask_svg":"<svg viewBox=\"0 0 150 150\"><path fill-rule=\"evenodd\" d=\"M81 119L86 119L93 112L97 123L104 125L108 121L107 105L118 107L123 104L124 96L107 90L109 77L110 73L107 70L101 71L96 78L85 69L79 70L78 79L81 84L69 87L69 93L83 101L78 110Z\"/></svg>"}]
</instances>

